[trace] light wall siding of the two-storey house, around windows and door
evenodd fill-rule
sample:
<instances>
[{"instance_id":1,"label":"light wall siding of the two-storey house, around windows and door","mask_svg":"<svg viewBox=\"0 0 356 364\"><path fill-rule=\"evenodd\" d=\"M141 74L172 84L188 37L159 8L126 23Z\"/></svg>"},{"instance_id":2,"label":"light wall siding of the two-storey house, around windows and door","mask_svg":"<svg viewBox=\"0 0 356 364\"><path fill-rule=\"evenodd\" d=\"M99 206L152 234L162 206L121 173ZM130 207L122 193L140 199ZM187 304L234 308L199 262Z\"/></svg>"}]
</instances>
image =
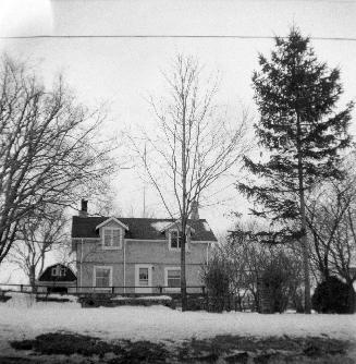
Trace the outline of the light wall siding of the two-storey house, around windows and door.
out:
<instances>
[{"instance_id":1,"label":"light wall siding of the two-storey house, around windows and door","mask_svg":"<svg viewBox=\"0 0 356 364\"><path fill-rule=\"evenodd\" d=\"M116 225L115 225L116 226ZM103 250L101 239L77 239L77 284L79 287L94 286L95 266L112 267L112 286L126 286L125 293L134 293L135 266L148 264L152 267L152 287L164 286L164 268L177 267L181 262L180 251L170 251L168 240L143 241L124 240L122 248ZM83 246L83 252L82 252ZM208 243L188 244L186 253L187 286L201 286L201 266L206 264ZM125 282L124 282L124 254ZM84 289L87 291L88 289ZM188 292L200 291L199 288ZM157 289L152 291L158 292ZM115 293L124 293L123 289L115 289Z\"/></svg>"}]
</instances>

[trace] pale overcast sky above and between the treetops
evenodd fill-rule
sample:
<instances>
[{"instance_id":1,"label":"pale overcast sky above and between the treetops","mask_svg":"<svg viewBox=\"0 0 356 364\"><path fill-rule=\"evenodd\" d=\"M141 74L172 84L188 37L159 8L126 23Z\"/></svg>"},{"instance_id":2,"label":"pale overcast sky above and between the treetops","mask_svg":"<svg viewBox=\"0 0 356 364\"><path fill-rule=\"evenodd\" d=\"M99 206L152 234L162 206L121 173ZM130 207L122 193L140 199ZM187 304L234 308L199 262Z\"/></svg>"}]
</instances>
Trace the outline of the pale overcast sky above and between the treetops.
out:
<instances>
[{"instance_id":1,"label":"pale overcast sky above and between the treetops","mask_svg":"<svg viewBox=\"0 0 356 364\"><path fill-rule=\"evenodd\" d=\"M292 24L311 37L356 37L356 1L332 0L9 0L0 4L0 35L242 35L285 36ZM340 66L345 88L341 106L356 99L356 41L312 40L320 60ZM149 126L147 95L163 96L160 70L177 52L193 54L222 75L219 101L232 111L243 102L254 111L251 72L257 54L268 54L271 39L221 38L38 38L1 39L0 48L39 63L49 81L64 73L79 98L90 106L111 106L106 132L120 133L130 124ZM355 113L354 113L355 116ZM354 121L355 123L355 121ZM352 128L356 131L356 125ZM223 205L202 208L216 231L228 229L225 214L246 202L224 180L217 186ZM142 214L143 182L134 171L114 181L116 203ZM226 185L230 185L225 189ZM224 191L221 191L224 190ZM158 197L148 192L147 207L163 217Z\"/></svg>"}]
</instances>

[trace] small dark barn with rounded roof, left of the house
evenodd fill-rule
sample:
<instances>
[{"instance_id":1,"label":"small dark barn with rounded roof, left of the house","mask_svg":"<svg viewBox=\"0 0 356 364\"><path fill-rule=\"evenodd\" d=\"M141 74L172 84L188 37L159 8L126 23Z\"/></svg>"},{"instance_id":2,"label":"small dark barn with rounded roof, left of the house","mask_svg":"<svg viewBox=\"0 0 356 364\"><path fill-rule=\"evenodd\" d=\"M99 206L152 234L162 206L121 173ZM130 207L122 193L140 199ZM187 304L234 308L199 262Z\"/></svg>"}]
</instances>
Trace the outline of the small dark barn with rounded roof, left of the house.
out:
<instances>
[{"instance_id":1,"label":"small dark barn with rounded roof, left of the house","mask_svg":"<svg viewBox=\"0 0 356 364\"><path fill-rule=\"evenodd\" d=\"M75 290L76 277L70 267L54 264L42 271L36 286L38 286L38 292L67 293Z\"/></svg>"}]
</instances>

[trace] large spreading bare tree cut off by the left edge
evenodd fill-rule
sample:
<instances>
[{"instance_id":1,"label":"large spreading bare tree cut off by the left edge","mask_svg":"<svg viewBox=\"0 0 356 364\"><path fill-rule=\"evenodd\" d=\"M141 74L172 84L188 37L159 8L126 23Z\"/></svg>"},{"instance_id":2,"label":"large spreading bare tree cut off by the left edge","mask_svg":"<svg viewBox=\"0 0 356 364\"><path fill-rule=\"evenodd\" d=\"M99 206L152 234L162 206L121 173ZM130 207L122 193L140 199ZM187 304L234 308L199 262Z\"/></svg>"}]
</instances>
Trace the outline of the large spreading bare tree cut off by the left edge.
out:
<instances>
[{"instance_id":1,"label":"large spreading bare tree cut off by the left edge","mask_svg":"<svg viewBox=\"0 0 356 364\"><path fill-rule=\"evenodd\" d=\"M49 205L73 205L114 168L98 142L105 120L78 104L59 77L46 89L24 63L0 60L0 263L22 221Z\"/></svg>"}]
</instances>

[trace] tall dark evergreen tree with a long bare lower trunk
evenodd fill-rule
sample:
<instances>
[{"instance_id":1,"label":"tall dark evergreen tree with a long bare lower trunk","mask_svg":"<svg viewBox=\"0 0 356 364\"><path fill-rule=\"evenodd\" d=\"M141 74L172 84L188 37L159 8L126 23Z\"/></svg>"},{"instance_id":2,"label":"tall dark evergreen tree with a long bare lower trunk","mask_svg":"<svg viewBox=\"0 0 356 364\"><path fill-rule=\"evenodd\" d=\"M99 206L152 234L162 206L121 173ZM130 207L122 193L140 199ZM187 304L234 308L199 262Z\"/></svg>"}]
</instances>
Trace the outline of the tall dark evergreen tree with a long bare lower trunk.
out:
<instances>
[{"instance_id":1,"label":"tall dark evergreen tree with a long bare lower trunk","mask_svg":"<svg viewBox=\"0 0 356 364\"><path fill-rule=\"evenodd\" d=\"M305 312L310 313L306 193L324 179L342 178L340 151L351 143L353 102L335 110L343 93L340 71L319 62L309 38L295 28L286 38L277 37L270 59L260 54L259 64L253 75L260 112L255 131L268 156L258 162L244 158L256 181L240 183L238 190L259 206L254 215L271 221L262 241L300 241Z\"/></svg>"}]
</instances>

